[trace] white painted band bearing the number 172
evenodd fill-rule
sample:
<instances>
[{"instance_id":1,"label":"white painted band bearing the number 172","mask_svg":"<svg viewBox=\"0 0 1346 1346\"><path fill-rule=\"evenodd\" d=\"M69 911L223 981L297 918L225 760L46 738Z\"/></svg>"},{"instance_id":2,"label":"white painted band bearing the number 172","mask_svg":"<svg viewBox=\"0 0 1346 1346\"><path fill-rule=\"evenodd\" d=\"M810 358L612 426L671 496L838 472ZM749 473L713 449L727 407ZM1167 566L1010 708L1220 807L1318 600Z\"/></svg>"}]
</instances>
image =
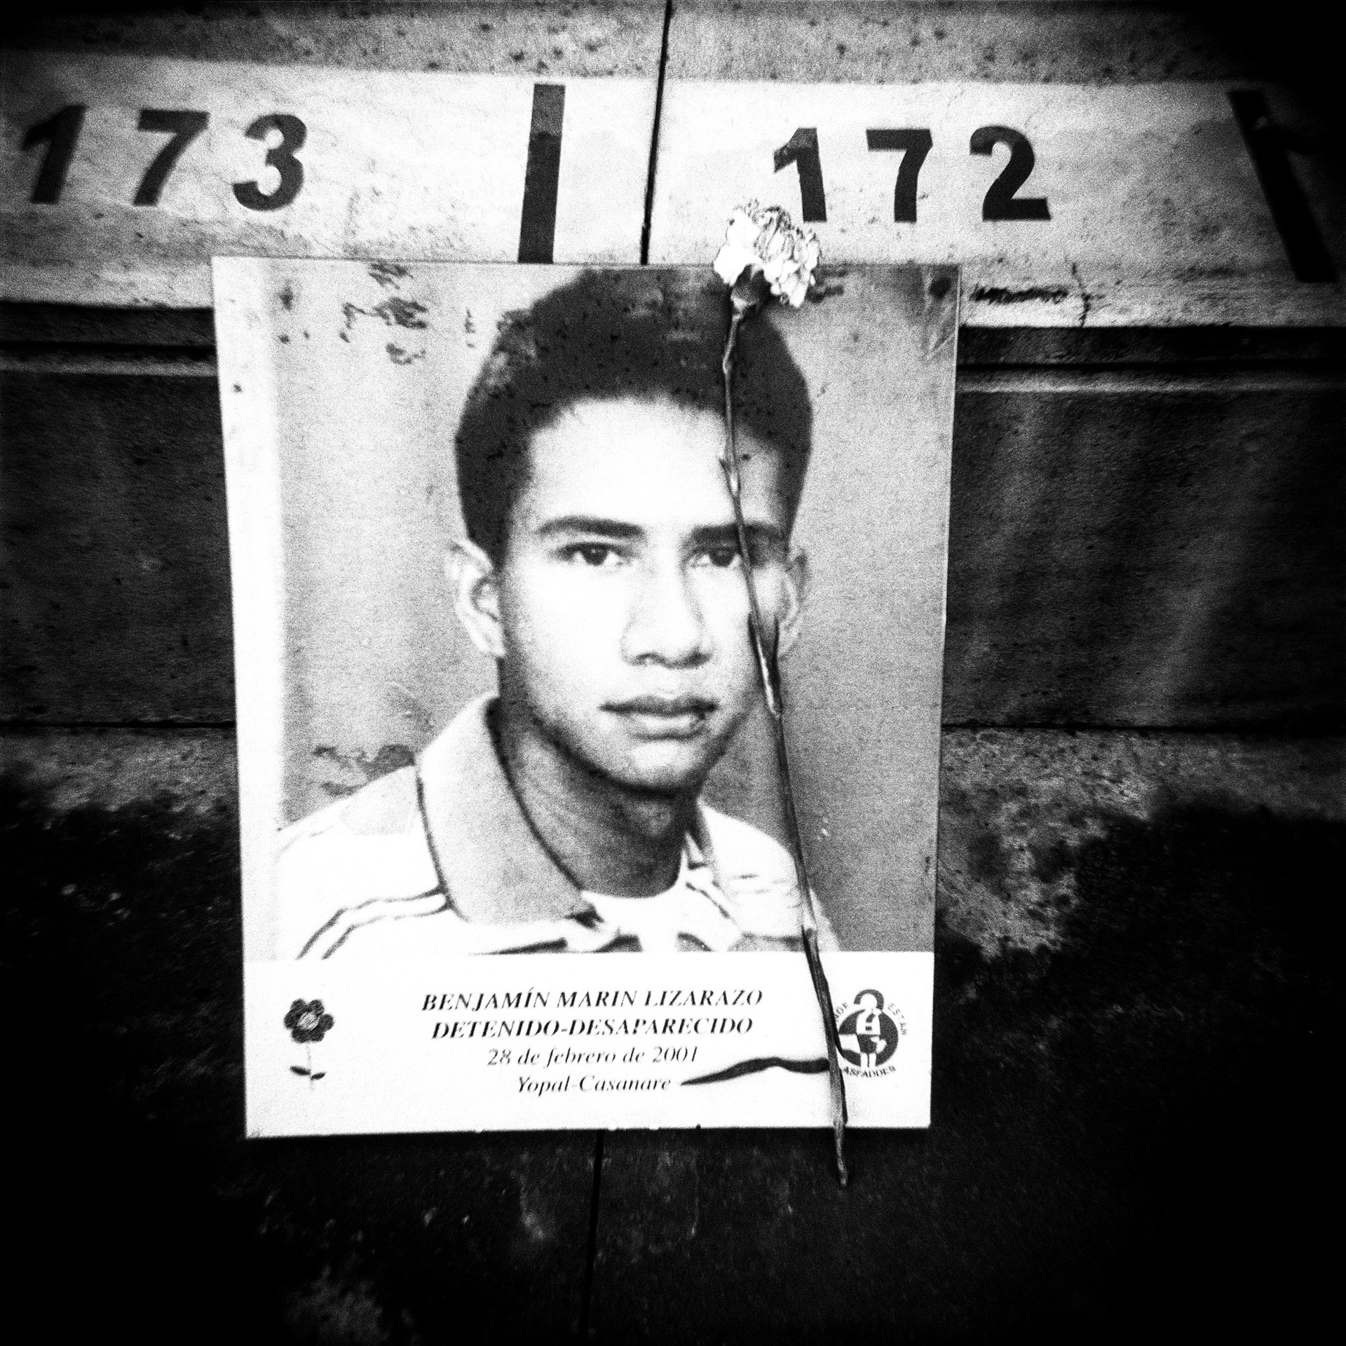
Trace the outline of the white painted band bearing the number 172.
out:
<instances>
[{"instance_id":1,"label":"white painted band bearing the number 172","mask_svg":"<svg viewBox=\"0 0 1346 1346\"><path fill-rule=\"evenodd\" d=\"M812 183L835 284L847 262L958 262L965 324L1337 326L1342 287L1296 280L1234 87L672 81L650 260L711 258L735 205L755 197L798 215ZM1312 145L1319 128L1291 94L1263 93L1276 125ZM1011 211L1038 202L1049 218L984 218L1014 140L995 128L1032 153ZM925 133L929 151L905 194L899 175ZM1284 153L1341 272L1342 184L1318 155Z\"/></svg>"}]
</instances>

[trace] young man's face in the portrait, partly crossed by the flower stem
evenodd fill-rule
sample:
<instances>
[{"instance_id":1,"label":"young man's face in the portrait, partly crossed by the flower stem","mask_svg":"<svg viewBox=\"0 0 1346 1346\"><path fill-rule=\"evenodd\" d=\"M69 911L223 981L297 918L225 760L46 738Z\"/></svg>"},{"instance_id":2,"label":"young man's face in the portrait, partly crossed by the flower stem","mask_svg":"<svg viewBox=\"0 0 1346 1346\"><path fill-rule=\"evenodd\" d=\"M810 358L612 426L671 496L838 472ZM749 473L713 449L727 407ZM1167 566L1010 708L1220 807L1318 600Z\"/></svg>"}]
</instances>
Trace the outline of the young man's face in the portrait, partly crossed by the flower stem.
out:
<instances>
[{"instance_id":1,"label":"young man's face in the portrait, partly crossed by the flower stem","mask_svg":"<svg viewBox=\"0 0 1346 1346\"><path fill-rule=\"evenodd\" d=\"M793 635L779 456L743 437L743 511L770 631ZM720 455L724 423L670 401L590 401L533 437L495 577L513 712L591 770L699 790L760 678Z\"/></svg>"}]
</instances>

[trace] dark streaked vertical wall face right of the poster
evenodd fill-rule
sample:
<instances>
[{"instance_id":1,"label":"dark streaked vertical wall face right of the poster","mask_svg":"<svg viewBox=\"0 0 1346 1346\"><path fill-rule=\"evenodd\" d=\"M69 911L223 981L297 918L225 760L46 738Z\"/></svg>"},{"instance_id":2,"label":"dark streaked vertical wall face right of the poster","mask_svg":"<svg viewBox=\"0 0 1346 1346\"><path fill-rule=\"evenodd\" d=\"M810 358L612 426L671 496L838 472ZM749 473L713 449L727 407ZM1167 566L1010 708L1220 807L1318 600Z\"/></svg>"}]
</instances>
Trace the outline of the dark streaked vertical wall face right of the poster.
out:
<instances>
[{"instance_id":1,"label":"dark streaked vertical wall face right of the poster","mask_svg":"<svg viewBox=\"0 0 1346 1346\"><path fill-rule=\"evenodd\" d=\"M1346 716L1341 389L960 394L946 724Z\"/></svg>"}]
</instances>

